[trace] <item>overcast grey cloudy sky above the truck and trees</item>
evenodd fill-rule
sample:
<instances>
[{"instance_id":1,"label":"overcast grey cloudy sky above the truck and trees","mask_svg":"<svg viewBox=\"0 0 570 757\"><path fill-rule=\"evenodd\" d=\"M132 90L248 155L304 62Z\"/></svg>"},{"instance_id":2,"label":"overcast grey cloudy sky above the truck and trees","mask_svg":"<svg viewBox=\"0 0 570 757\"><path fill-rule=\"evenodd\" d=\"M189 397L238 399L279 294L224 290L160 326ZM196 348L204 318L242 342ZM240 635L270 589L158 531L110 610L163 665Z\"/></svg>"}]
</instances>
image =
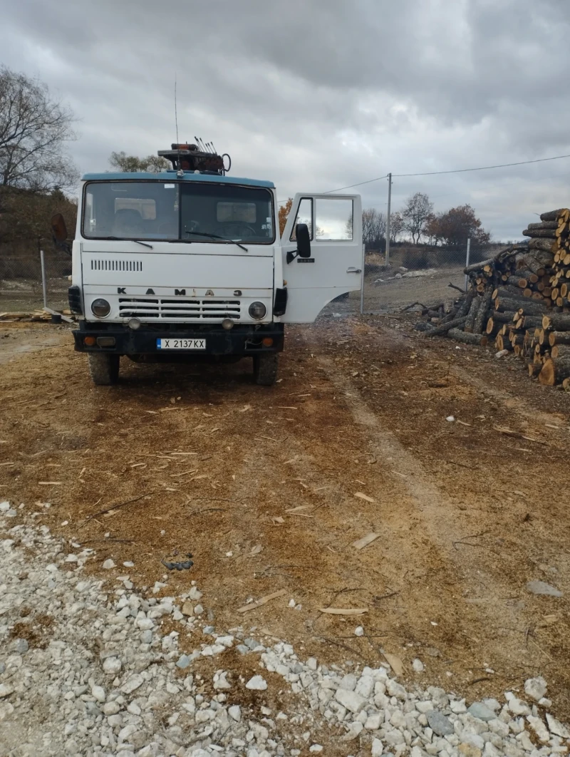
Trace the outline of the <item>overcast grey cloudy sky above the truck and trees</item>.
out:
<instances>
[{"instance_id":1,"label":"overcast grey cloudy sky above the truck and trees","mask_svg":"<svg viewBox=\"0 0 570 757\"><path fill-rule=\"evenodd\" d=\"M568 0L19 0L0 63L76 114L79 170L200 136L279 200L570 154ZM347 190L386 210L388 182ZM570 204L570 157L395 177L494 240Z\"/></svg>"}]
</instances>

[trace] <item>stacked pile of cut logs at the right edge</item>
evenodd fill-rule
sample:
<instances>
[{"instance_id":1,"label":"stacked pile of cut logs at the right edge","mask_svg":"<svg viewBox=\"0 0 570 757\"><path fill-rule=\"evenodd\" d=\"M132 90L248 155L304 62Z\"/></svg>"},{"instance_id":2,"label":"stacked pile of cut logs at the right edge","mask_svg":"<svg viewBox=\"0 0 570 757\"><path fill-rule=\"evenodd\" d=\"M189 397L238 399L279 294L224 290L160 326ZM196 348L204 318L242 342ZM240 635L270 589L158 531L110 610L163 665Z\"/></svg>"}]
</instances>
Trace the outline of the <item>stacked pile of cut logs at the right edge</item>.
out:
<instances>
[{"instance_id":1,"label":"stacked pile of cut logs at the right edge","mask_svg":"<svg viewBox=\"0 0 570 757\"><path fill-rule=\"evenodd\" d=\"M525 229L528 242L465 269L469 285L446 313L425 308L425 336L494 344L522 358L541 384L570 391L570 210Z\"/></svg>"}]
</instances>

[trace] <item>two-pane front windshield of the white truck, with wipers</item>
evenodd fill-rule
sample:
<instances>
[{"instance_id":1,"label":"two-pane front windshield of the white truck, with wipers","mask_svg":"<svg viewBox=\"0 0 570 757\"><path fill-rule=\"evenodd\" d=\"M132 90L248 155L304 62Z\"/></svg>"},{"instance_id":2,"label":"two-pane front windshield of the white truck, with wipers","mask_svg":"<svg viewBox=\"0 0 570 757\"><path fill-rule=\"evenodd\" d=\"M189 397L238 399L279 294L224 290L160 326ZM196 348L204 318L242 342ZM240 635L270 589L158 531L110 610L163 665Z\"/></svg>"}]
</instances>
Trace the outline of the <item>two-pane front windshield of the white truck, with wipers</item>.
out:
<instances>
[{"instance_id":1,"label":"two-pane front windshield of the white truck, with wipers","mask_svg":"<svg viewBox=\"0 0 570 757\"><path fill-rule=\"evenodd\" d=\"M271 245L267 189L201 182L89 182L83 237Z\"/></svg>"}]
</instances>

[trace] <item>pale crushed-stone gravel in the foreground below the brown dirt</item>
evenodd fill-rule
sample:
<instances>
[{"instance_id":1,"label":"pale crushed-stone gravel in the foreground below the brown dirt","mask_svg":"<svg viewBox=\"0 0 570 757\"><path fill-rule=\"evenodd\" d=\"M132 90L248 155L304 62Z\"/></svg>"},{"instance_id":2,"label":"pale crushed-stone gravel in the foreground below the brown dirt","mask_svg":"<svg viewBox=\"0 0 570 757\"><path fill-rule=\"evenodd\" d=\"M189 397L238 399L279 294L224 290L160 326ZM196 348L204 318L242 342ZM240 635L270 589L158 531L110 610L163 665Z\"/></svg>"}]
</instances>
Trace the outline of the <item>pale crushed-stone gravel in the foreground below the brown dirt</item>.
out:
<instances>
[{"instance_id":1,"label":"pale crushed-stone gravel in the foreground below the brown dirt","mask_svg":"<svg viewBox=\"0 0 570 757\"><path fill-rule=\"evenodd\" d=\"M256 628L205 625L198 587L159 597L167 584L137 590L129 575L115 575L124 564L117 571L103 564L105 581L86 575L89 561L101 567L93 550L72 552L45 526L6 519L11 509L0 503L2 757L568 751L570 733L547 712L543 678L520 681L503 703L468 706L439 687L406 689L387 663L347 670L342 661L304 660ZM182 652L182 637L203 641ZM235 648L241 654L224 654ZM195 665L199 659L210 673ZM416 659L413 670L420 665Z\"/></svg>"}]
</instances>

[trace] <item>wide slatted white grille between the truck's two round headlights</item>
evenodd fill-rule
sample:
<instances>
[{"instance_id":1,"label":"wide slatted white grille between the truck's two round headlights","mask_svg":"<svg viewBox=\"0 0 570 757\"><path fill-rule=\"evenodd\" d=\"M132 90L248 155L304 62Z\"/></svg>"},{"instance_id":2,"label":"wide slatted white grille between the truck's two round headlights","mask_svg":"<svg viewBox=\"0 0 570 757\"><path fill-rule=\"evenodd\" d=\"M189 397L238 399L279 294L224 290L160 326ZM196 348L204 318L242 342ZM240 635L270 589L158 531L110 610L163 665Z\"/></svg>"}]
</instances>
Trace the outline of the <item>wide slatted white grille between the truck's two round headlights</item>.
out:
<instances>
[{"instance_id":1,"label":"wide slatted white grille between the truck's two round headlights","mask_svg":"<svg viewBox=\"0 0 570 757\"><path fill-rule=\"evenodd\" d=\"M241 317L239 300L207 300L182 298L119 298L119 315L122 318L180 319L184 321L220 320Z\"/></svg>"}]
</instances>

